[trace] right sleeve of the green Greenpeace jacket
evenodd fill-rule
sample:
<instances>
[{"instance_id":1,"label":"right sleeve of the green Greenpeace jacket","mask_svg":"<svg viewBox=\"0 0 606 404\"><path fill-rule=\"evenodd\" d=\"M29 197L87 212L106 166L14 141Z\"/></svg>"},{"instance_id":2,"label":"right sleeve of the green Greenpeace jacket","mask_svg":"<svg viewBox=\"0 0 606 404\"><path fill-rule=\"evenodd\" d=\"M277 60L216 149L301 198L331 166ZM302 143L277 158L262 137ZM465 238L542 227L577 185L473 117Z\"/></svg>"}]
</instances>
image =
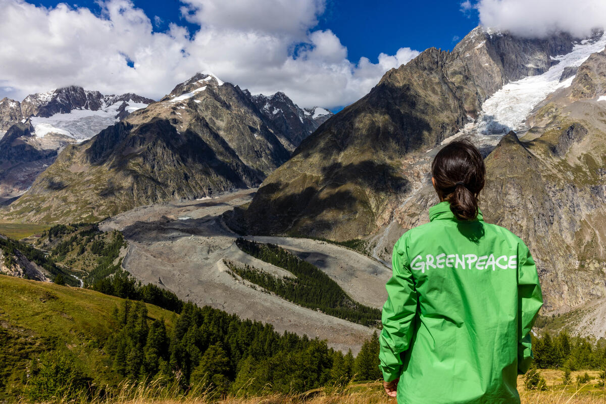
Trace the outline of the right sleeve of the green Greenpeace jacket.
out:
<instances>
[{"instance_id":1,"label":"right sleeve of the green Greenpeace jacket","mask_svg":"<svg viewBox=\"0 0 606 404\"><path fill-rule=\"evenodd\" d=\"M543 305L541 285L528 247L518 248L518 374L528 371L533 360L530 330Z\"/></svg>"}]
</instances>

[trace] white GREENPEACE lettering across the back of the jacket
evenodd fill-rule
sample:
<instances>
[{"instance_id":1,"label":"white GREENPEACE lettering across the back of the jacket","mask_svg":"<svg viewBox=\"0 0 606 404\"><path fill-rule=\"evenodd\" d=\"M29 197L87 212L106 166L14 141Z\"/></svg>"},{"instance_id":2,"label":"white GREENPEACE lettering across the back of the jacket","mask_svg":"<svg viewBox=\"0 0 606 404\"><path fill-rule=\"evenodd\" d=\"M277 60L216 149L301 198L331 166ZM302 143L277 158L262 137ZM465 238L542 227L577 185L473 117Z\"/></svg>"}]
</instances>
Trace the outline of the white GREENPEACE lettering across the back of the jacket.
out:
<instances>
[{"instance_id":1,"label":"white GREENPEACE lettering across the back of the jacket","mask_svg":"<svg viewBox=\"0 0 606 404\"><path fill-rule=\"evenodd\" d=\"M518 268L518 256L499 256L495 257L494 254L488 256L476 256L475 254L438 254L433 256L427 254L425 257L416 256L415 259L410 263L410 269L413 271L421 271L425 273L425 270L430 268L444 269L444 268L461 268L462 270L490 270L495 271L497 268L506 270L507 268L514 270Z\"/></svg>"}]
</instances>

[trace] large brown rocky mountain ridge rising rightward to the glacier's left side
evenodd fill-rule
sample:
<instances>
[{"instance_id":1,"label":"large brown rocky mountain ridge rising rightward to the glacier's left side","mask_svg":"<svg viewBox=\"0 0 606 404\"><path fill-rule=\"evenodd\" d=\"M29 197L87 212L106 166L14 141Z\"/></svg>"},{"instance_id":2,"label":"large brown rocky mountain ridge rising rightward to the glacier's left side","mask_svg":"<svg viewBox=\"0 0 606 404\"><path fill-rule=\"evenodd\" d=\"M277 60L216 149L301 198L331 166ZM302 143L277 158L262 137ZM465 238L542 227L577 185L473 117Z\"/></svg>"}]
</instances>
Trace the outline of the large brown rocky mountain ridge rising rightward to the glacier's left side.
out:
<instances>
[{"instance_id":1,"label":"large brown rocky mountain ridge rising rightward to the glacier's left side","mask_svg":"<svg viewBox=\"0 0 606 404\"><path fill-rule=\"evenodd\" d=\"M337 240L375 233L416 189L410 166L425 150L476 118L503 84L572 48L566 35L532 41L476 28L451 53L424 51L305 139L234 225Z\"/></svg>"}]
</instances>

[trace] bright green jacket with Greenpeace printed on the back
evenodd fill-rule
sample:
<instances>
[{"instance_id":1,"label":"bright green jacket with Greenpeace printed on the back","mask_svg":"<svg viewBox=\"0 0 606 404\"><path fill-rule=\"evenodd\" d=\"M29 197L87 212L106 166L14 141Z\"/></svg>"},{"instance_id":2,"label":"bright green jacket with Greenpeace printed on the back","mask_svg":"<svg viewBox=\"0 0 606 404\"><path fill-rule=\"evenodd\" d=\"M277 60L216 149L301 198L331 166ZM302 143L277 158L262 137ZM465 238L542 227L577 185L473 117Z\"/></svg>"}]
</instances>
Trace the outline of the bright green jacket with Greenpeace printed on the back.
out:
<instances>
[{"instance_id":1,"label":"bright green jacket with Greenpeace printed on the back","mask_svg":"<svg viewBox=\"0 0 606 404\"><path fill-rule=\"evenodd\" d=\"M543 304L528 248L505 228L456 219L448 202L393 247L379 366L398 403L519 403Z\"/></svg>"}]
</instances>

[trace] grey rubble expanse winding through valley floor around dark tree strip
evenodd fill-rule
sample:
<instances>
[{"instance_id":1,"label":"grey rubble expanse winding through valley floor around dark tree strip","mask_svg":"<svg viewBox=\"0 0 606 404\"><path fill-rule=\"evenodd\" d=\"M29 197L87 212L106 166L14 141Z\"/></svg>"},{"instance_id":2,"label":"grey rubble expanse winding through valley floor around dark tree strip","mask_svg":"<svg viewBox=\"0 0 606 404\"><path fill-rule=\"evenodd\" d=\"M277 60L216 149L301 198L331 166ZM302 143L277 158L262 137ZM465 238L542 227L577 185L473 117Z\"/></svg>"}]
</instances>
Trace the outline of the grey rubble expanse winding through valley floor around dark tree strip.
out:
<instances>
[{"instance_id":1,"label":"grey rubble expanse winding through valley floor around dark tree strip","mask_svg":"<svg viewBox=\"0 0 606 404\"><path fill-rule=\"evenodd\" d=\"M278 276L288 274L239 250L235 245L238 236L219 217L250 201L255 191L139 207L106 220L100 228L124 233L128 253L122 265L142 282L164 285L198 305L271 323L279 332L319 337L333 348L358 353L374 329L302 308L227 273L223 259L248 263ZM385 302L385 282L391 271L376 260L316 240L252 238L281 245L314 263L361 303L380 308Z\"/></svg>"}]
</instances>

